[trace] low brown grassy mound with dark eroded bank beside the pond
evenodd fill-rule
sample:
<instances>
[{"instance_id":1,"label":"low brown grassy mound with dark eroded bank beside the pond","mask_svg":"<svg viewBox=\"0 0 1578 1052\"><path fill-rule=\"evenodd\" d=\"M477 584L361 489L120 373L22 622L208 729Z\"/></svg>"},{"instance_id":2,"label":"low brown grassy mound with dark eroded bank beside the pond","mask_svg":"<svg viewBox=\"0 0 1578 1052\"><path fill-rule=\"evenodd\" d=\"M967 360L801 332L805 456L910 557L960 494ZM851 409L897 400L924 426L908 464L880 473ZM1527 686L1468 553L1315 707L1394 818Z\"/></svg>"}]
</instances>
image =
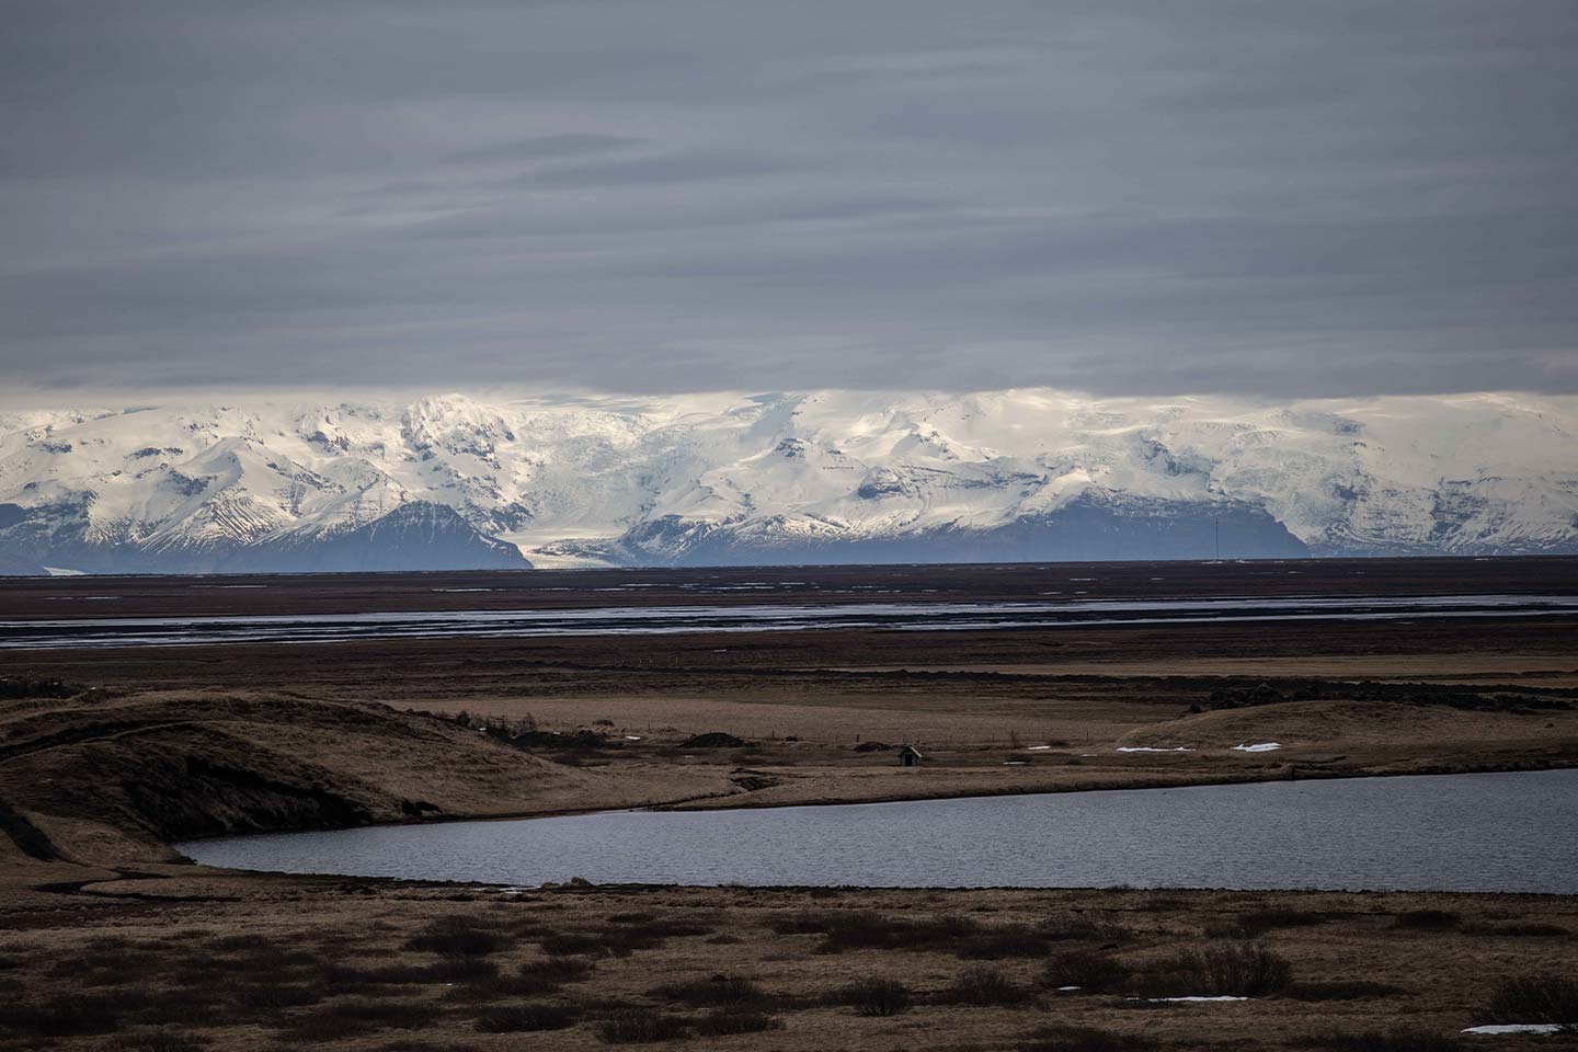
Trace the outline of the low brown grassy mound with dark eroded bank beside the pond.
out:
<instances>
[{"instance_id":1,"label":"low brown grassy mound with dark eroded bank beside the pond","mask_svg":"<svg viewBox=\"0 0 1578 1052\"><path fill-rule=\"evenodd\" d=\"M104 691L0 702L0 856L120 864L169 858L164 844L196 836L630 806L713 781L638 784L377 703Z\"/></svg>"}]
</instances>

